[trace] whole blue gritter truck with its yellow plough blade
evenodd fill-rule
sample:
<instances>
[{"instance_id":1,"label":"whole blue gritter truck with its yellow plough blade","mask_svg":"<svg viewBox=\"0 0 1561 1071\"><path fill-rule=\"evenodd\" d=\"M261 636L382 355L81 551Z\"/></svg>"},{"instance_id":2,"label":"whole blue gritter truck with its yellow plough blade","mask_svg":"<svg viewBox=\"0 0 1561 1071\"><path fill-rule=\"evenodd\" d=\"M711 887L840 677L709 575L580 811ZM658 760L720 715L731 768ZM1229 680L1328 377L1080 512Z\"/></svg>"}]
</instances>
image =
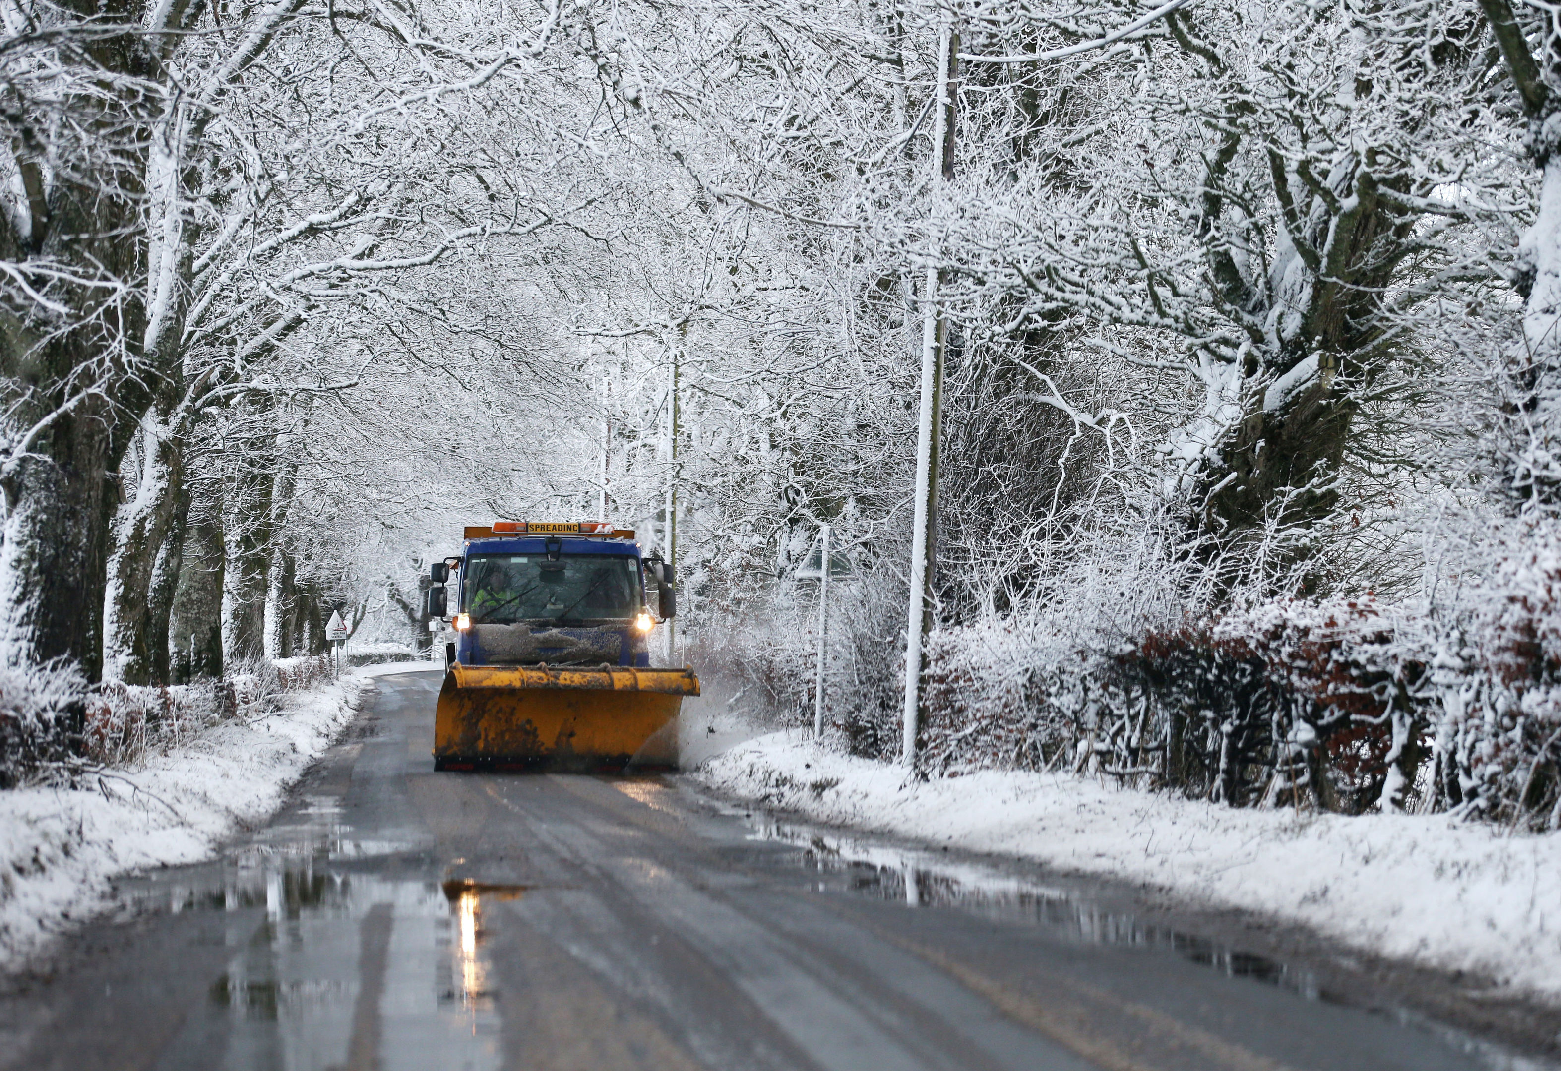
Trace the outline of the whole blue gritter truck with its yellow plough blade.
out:
<instances>
[{"instance_id":1,"label":"whole blue gritter truck with its yellow plough blade","mask_svg":"<svg viewBox=\"0 0 1561 1071\"><path fill-rule=\"evenodd\" d=\"M456 632L445 645L436 770L676 763L674 720L699 678L651 668L651 629L676 612L673 570L642 559L632 531L495 521L467 528L462 554L431 575L428 614Z\"/></svg>"}]
</instances>

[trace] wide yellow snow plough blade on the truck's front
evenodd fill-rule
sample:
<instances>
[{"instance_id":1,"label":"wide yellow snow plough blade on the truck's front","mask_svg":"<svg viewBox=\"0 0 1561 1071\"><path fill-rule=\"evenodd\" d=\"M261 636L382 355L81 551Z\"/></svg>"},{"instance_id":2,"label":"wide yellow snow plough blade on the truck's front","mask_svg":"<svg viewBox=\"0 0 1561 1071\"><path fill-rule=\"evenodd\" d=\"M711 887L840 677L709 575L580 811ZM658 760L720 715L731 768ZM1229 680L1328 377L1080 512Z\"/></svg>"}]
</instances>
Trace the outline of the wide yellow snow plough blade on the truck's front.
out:
<instances>
[{"instance_id":1,"label":"wide yellow snow plough blade on the truck's front","mask_svg":"<svg viewBox=\"0 0 1561 1071\"><path fill-rule=\"evenodd\" d=\"M450 667L434 715L434 768L603 770L676 765L692 670Z\"/></svg>"}]
</instances>

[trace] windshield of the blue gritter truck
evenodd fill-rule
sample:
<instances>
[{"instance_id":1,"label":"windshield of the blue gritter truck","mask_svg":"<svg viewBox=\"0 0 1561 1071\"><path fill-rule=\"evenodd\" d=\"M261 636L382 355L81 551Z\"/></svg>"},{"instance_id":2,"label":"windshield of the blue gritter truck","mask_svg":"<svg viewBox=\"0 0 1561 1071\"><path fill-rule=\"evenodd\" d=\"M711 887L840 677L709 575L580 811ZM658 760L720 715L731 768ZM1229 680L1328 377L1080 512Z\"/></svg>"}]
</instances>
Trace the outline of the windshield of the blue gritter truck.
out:
<instances>
[{"instance_id":1,"label":"windshield of the blue gritter truck","mask_svg":"<svg viewBox=\"0 0 1561 1071\"><path fill-rule=\"evenodd\" d=\"M462 609L473 621L624 621L640 609L632 557L609 554L471 554Z\"/></svg>"}]
</instances>

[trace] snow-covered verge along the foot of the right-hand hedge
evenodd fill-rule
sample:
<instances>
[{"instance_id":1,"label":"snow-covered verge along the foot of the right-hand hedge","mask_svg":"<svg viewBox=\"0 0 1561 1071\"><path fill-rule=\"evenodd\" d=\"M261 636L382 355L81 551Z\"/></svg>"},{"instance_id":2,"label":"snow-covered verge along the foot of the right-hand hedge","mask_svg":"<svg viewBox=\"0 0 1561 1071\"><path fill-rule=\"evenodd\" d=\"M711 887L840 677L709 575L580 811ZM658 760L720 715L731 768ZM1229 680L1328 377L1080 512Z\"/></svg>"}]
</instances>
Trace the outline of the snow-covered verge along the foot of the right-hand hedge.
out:
<instances>
[{"instance_id":1,"label":"snow-covered verge along the foot of the right-hand hedge","mask_svg":"<svg viewBox=\"0 0 1561 1071\"><path fill-rule=\"evenodd\" d=\"M1561 834L1509 835L1447 817L1235 810L1068 774L916 784L799 732L731 748L696 776L816 821L1127 877L1561 1002Z\"/></svg>"}]
</instances>

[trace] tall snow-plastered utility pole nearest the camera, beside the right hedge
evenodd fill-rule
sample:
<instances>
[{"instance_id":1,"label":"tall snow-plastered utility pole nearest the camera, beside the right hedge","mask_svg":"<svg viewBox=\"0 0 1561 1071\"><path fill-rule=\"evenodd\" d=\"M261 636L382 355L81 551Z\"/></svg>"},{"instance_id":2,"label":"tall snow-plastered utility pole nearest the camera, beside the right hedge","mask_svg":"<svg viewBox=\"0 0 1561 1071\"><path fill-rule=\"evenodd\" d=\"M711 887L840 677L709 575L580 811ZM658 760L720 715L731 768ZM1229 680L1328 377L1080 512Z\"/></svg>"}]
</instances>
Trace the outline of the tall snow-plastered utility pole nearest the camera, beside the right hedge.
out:
<instances>
[{"instance_id":1,"label":"tall snow-plastered utility pole nearest the camera, beside the right hedge","mask_svg":"<svg viewBox=\"0 0 1561 1071\"><path fill-rule=\"evenodd\" d=\"M954 178L954 101L958 95L960 36L952 16L938 34L938 108L932 128L932 187ZM916 414L915 531L910 545L910 607L905 623L905 709L901 762L916 768L924 721L923 676L932 632L938 562L938 453L943 439L943 359L949 322L938 303L941 270L927 269L921 298L921 407Z\"/></svg>"}]
</instances>

